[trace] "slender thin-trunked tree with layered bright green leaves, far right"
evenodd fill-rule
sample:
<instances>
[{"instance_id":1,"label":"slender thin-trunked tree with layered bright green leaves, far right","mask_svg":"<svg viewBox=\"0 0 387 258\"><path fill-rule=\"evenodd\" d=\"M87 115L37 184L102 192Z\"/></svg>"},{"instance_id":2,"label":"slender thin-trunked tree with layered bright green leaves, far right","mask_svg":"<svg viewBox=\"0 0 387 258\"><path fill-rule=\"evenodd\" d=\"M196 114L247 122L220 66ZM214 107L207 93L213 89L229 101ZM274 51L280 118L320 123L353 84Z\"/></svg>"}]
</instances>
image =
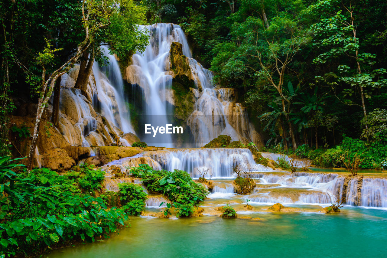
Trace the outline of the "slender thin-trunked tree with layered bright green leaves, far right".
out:
<instances>
[{"instance_id":1,"label":"slender thin-trunked tree with layered bright green leaves, far right","mask_svg":"<svg viewBox=\"0 0 387 258\"><path fill-rule=\"evenodd\" d=\"M330 15L331 10L334 14ZM361 105L346 100L345 103L358 105L363 109L364 117L367 116L365 98L370 98L374 88L387 84L383 75L385 69L374 69L370 72L372 61L376 55L360 51L359 37L356 34L357 21L354 15L355 6L352 0L341 2L338 0L319 1L308 7L307 13L321 16L322 19L310 28L313 31L313 46L323 49L313 62L325 64L337 61L337 79L352 88L344 89L343 96L352 96L360 91ZM327 15L328 14L328 15ZM351 69L350 64L354 64ZM365 71L365 72L364 72ZM331 76L325 74L324 76ZM320 79L321 76L317 76Z\"/></svg>"}]
</instances>

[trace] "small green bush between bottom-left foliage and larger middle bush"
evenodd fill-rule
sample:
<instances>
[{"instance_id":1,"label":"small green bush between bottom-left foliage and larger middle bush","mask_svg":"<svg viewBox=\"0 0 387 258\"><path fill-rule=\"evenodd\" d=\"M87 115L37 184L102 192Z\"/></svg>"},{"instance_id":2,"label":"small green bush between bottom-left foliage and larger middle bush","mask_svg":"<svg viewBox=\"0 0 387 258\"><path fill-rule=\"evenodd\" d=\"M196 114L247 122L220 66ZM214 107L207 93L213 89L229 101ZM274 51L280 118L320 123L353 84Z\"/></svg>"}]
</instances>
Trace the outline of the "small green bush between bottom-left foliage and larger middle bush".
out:
<instances>
[{"instance_id":1,"label":"small green bush between bottom-left foliage and larger middle bush","mask_svg":"<svg viewBox=\"0 0 387 258\"><path fill-rule=\"evenodd\" d=\"M145 209L147 194L139 184L122 183L118 184L120 189L122 209L129 215L140 215Z\"/></svg>"}]
</instances>

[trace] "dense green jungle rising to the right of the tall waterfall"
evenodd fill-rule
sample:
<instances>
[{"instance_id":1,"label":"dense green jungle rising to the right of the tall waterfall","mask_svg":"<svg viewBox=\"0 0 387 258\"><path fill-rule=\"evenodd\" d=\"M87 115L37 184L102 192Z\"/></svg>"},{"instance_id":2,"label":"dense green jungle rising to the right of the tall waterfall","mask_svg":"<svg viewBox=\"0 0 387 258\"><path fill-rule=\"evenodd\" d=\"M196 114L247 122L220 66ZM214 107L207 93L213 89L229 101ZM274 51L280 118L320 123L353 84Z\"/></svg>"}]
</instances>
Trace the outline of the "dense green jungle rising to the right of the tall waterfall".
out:
<instances>
[{"instance_id":1,"label":"dense green jungle rising to the right of the tall waterfall","mask_svg":"<svg viewBox=\"0 0 387 258\"><path fill-rule=\"evenodd\" d=\"M146 3L147 21L180 24L215 83L238 90L271 150L330 156L344 140L364 167L387 162L385 1Z\"/></svg>"}]
</instances>

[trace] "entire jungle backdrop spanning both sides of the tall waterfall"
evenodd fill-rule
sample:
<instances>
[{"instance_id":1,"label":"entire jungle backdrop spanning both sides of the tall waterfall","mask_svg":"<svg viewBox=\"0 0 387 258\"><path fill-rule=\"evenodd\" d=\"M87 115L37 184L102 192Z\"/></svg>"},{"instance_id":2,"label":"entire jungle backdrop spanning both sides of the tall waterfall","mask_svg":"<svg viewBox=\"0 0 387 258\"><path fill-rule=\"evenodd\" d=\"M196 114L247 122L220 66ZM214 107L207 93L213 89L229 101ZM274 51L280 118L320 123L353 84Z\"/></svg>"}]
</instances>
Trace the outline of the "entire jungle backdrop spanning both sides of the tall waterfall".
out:
<instances>
[{"instance_id":1,"label":"entire jungle backdrop spanning both sides of the tall waterfall","mask_svg":"<svg viewBox=\"0 0 387 258\"><path fill-rule=\"evenodd\" d=\"M54 72L84 46L76 85L82 89L88 58L103 63L99 45L109 44L126 63L147 42L136 24L155 22L180 24L194 57L216 73L221 87L237 90L268 146L327 150L343 134L360 139L365 152L387 143L385 1L93 0L84 2L87 24L79 19L82 2L2 2L3 154L12 144L12 97L44 103L54 90L41 86L43 70ZM55 126L55 115L52 120ZM385 161L383 149L376 163Z\"/></svg>"}]
</instances>

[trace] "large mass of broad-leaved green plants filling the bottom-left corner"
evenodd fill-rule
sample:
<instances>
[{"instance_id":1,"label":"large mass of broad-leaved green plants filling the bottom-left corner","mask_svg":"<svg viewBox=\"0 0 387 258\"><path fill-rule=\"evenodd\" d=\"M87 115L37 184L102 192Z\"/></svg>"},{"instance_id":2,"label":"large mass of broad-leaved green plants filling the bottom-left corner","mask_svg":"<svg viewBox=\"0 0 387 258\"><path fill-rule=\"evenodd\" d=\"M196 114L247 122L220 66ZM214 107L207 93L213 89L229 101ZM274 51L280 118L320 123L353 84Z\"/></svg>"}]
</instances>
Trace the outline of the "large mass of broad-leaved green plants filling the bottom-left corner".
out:
<instances>
[{"instance_id":1,"label":"large mass of broad-leaved green plants filling the bottom-left corner","mask_svg":"<svg viewBox=\"0 0 387 258\"><path fill-rule=\"evenodd\" d=\"M108 210L101 198L68 191L72 178L48 169L27 174L15 161L0 158L3 254L33 256L66 241L94 241L128 219L118 209Z\"/></svg>"}]
</instances>

